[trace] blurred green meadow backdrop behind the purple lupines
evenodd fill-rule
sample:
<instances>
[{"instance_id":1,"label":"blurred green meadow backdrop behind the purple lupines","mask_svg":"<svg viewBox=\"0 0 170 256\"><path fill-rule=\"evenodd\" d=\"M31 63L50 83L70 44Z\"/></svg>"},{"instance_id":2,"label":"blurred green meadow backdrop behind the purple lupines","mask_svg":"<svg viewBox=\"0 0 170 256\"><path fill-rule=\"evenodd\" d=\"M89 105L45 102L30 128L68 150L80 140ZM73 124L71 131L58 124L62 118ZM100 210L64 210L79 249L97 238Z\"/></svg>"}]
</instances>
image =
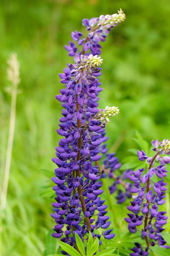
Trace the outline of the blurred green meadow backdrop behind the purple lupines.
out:
<instances>
[{"instance_id":1,"label":"blurred green meadow backdrop behind the purple lupines","mask_svg":"<svg viewBox=\"0 0 170 256\"><path fill-rule=\"evenodd\" d=\"M170 139L170 1L169 0L1 0L0 1L0 180L7 148L11 96L5 92L7 59L20 61L15 137L2 256L41 256L54 226L51 201L40 197L53 170L55 132L61 116L55 99L62 88L58 73L72 63L64 45L71 31L85 32L83 18L122 9L125 22L109 34L101 57L100 108L118 106L107 126L108 146L119 159L132 148L135 130L150 142ZM86 32L85 32L86 33Z\"/></svg>"}]
</instances>

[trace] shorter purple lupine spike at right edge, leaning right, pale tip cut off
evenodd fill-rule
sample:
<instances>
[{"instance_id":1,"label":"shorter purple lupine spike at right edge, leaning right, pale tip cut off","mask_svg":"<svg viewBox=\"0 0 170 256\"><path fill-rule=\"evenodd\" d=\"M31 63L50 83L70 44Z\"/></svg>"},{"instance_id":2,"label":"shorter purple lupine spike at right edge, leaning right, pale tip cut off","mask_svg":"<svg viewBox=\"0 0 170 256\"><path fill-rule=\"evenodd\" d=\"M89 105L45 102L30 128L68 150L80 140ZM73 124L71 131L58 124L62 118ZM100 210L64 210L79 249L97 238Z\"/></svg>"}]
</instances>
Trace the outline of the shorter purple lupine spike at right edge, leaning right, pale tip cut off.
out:
<instances>
[{"instance_id":1,"label":"shorter purple lupine spike at right edge, leaning right, pale tip cut off","mask_svg":"<svg viewBox=\"0 0 170 256\"><path fill-rule=\"evenodd\" d=\"M152 146L154 146L152 150L155 151L153 157L148 157L143 150L137 152L139 160L147 159L149 167L132 172L129 176L129 179L134 182L134 188L130 192L135 193L135 196L132 196L131 206L127 207L132 213L128 213L129 218L125 220L128 222L128 229L131 233L135 233L137 227L140 227L141 237L146 240L147 244L144 249L139 243L135 243L136 247L132 249L131 256L148 255L150 246L158 245L169 248L161 237L168 217L165 216L166 211L159 211L159 205L166 202L167 183L163 179L168 172L165 165L170 163L169 157L165 155L169 155L170 142L167 139L162 142L155 140L152 141ZM154 178L155 176L157 179Z\"/></svg>"}]
</instances>

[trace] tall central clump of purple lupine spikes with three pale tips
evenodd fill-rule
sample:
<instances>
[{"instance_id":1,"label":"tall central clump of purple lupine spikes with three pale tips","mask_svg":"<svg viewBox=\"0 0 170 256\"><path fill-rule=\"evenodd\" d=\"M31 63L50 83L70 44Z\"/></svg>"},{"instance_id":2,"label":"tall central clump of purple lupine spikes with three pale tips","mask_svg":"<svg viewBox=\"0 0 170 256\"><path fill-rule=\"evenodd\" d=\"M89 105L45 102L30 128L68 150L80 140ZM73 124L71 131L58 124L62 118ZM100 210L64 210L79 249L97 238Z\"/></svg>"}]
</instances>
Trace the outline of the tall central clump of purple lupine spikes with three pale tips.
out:
<instances>
[{"instance_id":1,"label":"tall central clump of purple lupine spikes with three pale tips","mask_svg":"<svg viewBox=\"0 0 170 256\"><path fill-rule=\"evenodd\" d=\"M55 213L51 216L56 222L52 235L72 246L75 244L74 232L84 240L88 231L94 237L95 229L107 229L110 225L107 205L99 196L103 190L97 163L102 157L99 153L106 153L103 142L107 139L104 136L108 118L116 115L119 109L97 108L98 94L102 90L97 78L102 64L98 54L102 48L99 41L104 41L110 30L124 19L121 10L118 14L84 19L88 36L77 31L71 34L82 50L73 42L65 46L69 55L74 56L75 63L68 64L64 73L59 74L65 88L56 96L63 107L60 129L57 129L62 139L56 147L56 158L52 159L57 168L52 178L56 202L52 204ZM111 231L104 231L104 237L113 238L115 234Z\"/></svg>"}]
</instances>

